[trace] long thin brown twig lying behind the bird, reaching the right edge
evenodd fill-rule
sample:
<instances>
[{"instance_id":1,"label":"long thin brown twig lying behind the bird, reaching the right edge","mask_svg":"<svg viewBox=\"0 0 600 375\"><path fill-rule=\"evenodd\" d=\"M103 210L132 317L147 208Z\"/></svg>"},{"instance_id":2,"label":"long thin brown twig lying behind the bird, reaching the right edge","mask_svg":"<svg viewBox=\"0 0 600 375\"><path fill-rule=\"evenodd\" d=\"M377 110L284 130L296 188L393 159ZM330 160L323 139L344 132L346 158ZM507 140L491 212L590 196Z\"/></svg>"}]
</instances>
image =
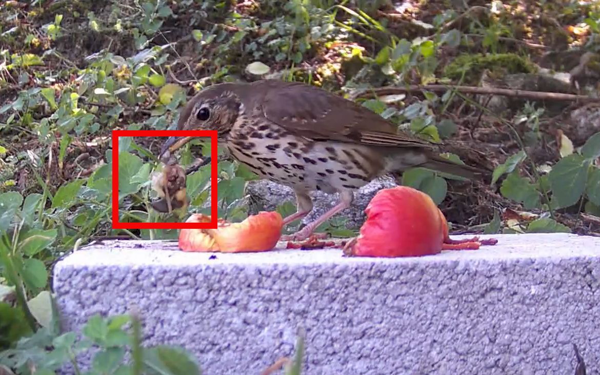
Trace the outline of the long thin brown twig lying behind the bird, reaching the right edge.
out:
<instances>
[{"instance_id":1,"label":"long thin brown twig lying behind the bird, reaching the right edge","mask_svg":"<svg viewBox=\"0 0 600 375\"><path fill-rule=\"evenodd\" d=\"M373 98L378 95L406 94L422 90L447 91L451 89L446 85L408 85L408 86L386 86L372 89L361 89L350 94L352 100L358 98ZM453 86L455 91L466 94L503 95L507 97L528 98L535 100L578 100L584 103L600 103L600 98L587 97L586 95L564 94L562 92L526 91L517 89L503 89L495 87L478 86Z\"/></svg>"}]
</instances>

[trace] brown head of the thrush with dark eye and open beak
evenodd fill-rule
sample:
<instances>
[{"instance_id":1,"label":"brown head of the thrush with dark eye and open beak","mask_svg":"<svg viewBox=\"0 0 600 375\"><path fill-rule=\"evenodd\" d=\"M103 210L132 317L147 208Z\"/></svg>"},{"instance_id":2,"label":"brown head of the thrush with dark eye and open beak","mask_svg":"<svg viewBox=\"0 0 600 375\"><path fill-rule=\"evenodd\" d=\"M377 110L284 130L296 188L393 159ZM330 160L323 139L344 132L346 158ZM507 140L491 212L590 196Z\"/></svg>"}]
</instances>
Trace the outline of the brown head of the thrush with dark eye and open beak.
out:
<instances>
[{"instance_id":1,"label":"brown head of the thrush with dark eye and open beak","mask_svg":"<svg viewBox=\"0 0 600 375\"><path fill-rule=\"evenodd\" d=\"M191 98L179 114L177 130L217 130L218 137L229 133L243 106L231 83L204 89ZM159 158L168 160L172 152L194 137L169 137L160 150Z\"/></svg>"}]
</instances>

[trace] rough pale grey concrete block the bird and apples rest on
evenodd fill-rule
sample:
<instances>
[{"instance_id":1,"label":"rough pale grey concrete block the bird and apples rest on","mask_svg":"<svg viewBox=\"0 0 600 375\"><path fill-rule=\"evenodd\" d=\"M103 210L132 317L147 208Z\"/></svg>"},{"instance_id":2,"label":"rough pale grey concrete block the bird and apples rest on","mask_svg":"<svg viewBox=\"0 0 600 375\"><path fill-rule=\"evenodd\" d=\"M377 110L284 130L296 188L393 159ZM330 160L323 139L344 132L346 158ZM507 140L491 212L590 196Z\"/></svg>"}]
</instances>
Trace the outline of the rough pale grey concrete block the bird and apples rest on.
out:
<instances>
[{"instance_id":1,"label":"rough pale grey concrete block the bird and apples rest on","mask_svg":"<svg viewBox=\"0 0 600 375\"><path fill-rule=\"evenodd\" d=\"M600 239L495 237L397 259L106 241L57 263L53 287L66 329L136 307L146 344L187 347L207 375L259 375L292 355L298 326L307 375L566 375L573 344L600 370Z\"/></svg>"}]
</instances>

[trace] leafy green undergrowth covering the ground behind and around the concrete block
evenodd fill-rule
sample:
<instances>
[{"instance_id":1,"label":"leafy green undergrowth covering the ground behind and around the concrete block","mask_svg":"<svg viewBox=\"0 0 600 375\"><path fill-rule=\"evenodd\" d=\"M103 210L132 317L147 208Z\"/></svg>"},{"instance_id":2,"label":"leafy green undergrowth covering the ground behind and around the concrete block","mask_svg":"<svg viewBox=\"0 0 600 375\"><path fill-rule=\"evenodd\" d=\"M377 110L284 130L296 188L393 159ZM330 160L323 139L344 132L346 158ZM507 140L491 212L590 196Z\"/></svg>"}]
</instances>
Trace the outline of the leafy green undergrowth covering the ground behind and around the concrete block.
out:
<instances>
[{"instance_id":1,"label":"leafy green undergrowth covering the ground behind and around the concrete block","mask_svg":"<svg viewBox=\"0 0 600 375\"><path fill-rule=\"evenodd\" d=\"M134 314L91 317L80 339L61 332L48 270L93 239L176 238L175 230L111 228L111 131L170 128L187 98L213 83L269 76L321 86L446 143L449 157L493 170L486 184L421 169L404 174L402 183L430 194L455 230L598 235L600 128L581 133L566 121L584 101L561 101L557 115L544 100L517 98L518 107L500 114L486 106L494 95L457 89L478 85L486 74L501 80L536 74L542 65L571 70L578 64L571 50L580 56L600 49L598 2L422 3L2 2L0 373L77 368L76 356L91 347L98 350L92 369L77 373L199 373L185 350L142 349ZM445 88L353 96L358 89L431 83ZM181 220L150 208L160 145L150 137L119 139L120 221ZM209 147L201 140L186 145L181 163L208 155ZM219 214L242 220L251 207L245 187L256 176L231 160L218 170ZM209 167L189 175L187 186L191 211L208 213ZM355 230L340 218L322 229ZM300 372L301 355L295 361L290 374Z\"/></svg>"}]
</instances>

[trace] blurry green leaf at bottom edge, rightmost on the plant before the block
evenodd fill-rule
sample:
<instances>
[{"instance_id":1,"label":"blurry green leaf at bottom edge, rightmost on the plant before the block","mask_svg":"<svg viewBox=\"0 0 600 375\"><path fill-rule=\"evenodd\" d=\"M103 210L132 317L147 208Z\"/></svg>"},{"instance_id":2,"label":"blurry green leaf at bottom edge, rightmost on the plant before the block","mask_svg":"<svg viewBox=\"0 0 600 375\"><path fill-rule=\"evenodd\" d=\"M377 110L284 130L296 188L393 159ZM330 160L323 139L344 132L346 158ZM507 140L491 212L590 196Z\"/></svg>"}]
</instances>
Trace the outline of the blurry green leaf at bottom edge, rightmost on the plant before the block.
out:
<instances>
[{"instance_id":1,"label":"blurry green leaf at bottom edge, rightmost on the plant before the block","mask_svg":"<svg viewBox=\"0 0 600 375\"><path fill-rule=\"evenodd\" d=\"M194 358L184 349L160 345L143 352L143 362L161 375L200 375Z\"/></svg>"}]
</instances>

